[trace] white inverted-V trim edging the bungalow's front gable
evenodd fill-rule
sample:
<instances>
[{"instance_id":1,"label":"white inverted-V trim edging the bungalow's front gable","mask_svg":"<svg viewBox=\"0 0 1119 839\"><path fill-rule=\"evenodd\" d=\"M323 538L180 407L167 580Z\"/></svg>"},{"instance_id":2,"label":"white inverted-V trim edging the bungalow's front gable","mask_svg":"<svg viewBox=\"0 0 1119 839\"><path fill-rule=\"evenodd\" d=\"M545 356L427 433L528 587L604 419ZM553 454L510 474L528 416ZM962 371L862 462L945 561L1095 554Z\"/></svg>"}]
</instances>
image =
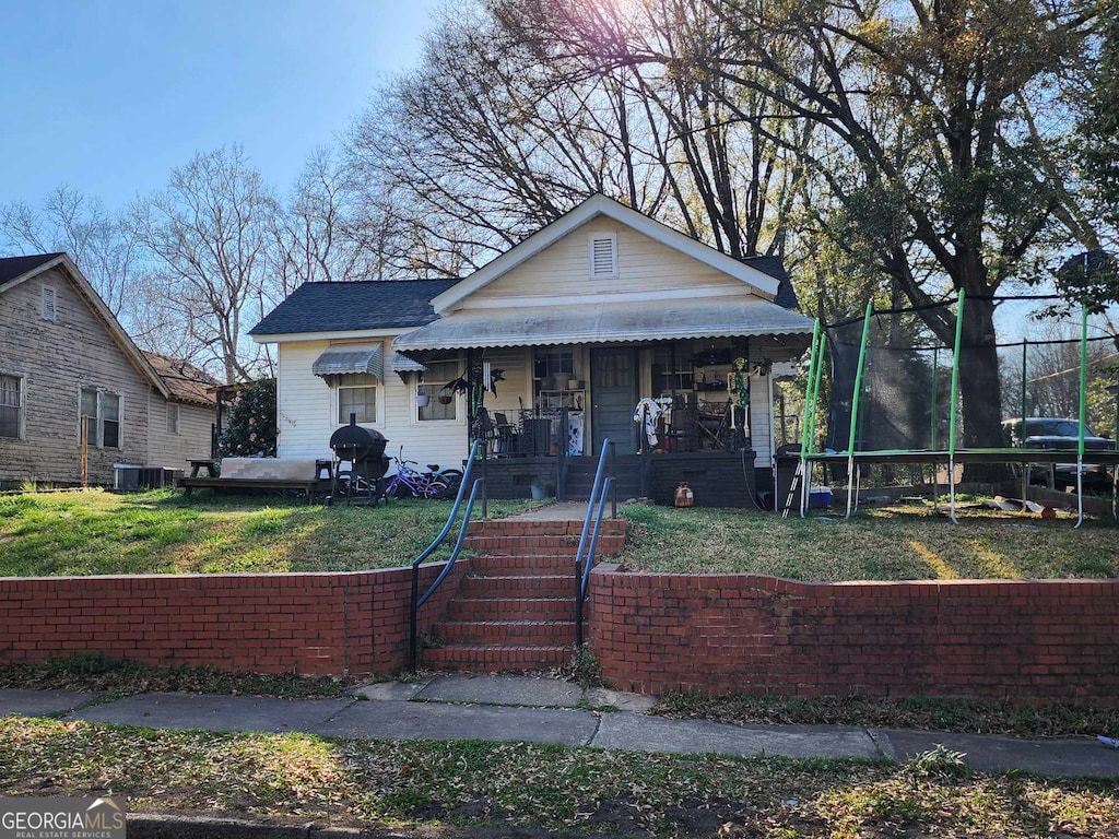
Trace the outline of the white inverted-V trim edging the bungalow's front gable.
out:
<instances>
[{"instance_id":1,"label":"white inverted-V trim edging the bungalow's front gable","mask_svg":"<svg viewBox=\"0 0 1119 839\"><path fill-rule=\"evenodd\" d=\"M444 312L453 309L463 298L469 296L479 289L490 284L502 274L517 267L525 261L540 253L544 248L555 244L564 236L582 227L598 216L606 216L619 224L626 225L638 233L658 242L667 247L690 256L716 271L721 271L728 276L741 280L750 286L751 291L763 300L775 300L780 291L781 283L778 277L772 276L767 271L749 262L735 260L720 251L705 245L690 236L676 230L668 225L646 216L642 213L630 209L618 201L606 198L604 195L593 195L574 209L565 213L552 224L540 228L532 236L515 245L504 254L487 263L462 282L448 289L445 292L433 299L432 307L436 312ZM768 265L768 263L767 263Z\"/></svg>"}]
</instances>

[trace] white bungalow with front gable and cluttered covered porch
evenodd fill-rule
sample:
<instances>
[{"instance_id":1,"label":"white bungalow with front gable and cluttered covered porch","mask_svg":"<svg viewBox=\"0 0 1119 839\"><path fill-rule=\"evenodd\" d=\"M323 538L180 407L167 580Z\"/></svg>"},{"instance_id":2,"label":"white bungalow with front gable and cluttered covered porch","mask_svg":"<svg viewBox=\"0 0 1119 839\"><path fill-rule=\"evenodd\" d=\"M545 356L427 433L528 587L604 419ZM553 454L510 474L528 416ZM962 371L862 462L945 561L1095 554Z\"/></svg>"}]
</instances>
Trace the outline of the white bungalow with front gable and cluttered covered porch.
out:
<instances>
[{"instance_id":1,"label":"white bungalow with front gable and cluttered covered porch","mask_svg":"<svg viewBox=\"0 0 1119 839\"><path fill-rule=\"evenodd\" d=\"M330 456L354 415L421 464L482 439L491 497L579 497L610 440L626 494L726 506L771 481L794 307L779 260L594 196L461 280L305 283L250 333L276 345L281 458Z\"/></svg>"}]
</instances>

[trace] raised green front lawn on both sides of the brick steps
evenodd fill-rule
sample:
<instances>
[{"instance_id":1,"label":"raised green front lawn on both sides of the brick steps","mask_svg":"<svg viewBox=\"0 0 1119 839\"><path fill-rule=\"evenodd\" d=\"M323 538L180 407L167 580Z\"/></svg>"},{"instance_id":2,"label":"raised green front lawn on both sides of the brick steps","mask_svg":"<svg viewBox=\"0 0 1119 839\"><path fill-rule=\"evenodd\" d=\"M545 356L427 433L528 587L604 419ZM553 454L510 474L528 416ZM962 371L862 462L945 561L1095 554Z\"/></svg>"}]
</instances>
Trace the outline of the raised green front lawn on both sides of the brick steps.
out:
<instances>
[{"instance_id":1,"label":"raised green front lawn on both sides of the brick steps","mask_svg":"<svg viewBox=\"0 0 1119 839\"><path fill-rule=\"evenodd\" d=\"M529 507L491 502L491 516ZM439 532L450 502L320 507L280 498L152 491L0 496L0 575L218 574L356 571L407 565ZM931 508L868 508L781 519L756 510L623 508L627 568L754 573L793 579L1119 576L1119 525L1072 529L994 511L950 524Z\"/></svg>"}]
</instances>

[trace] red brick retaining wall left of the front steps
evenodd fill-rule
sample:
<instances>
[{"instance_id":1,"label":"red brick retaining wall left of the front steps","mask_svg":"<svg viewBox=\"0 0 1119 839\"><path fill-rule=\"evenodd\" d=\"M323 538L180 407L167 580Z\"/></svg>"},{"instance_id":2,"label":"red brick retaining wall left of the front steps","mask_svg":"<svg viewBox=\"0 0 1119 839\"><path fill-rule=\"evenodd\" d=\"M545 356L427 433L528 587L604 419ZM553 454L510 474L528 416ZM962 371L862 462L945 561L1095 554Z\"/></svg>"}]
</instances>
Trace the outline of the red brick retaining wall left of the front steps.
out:
<instances>
[{"instance_id":1,"label":"red brick retaining wall left of the front steps","mask_svg":"<svg viewBox=\"0 0 1119 839\"><path fill-rule=\"evenodd\" d=\"M421 611L442 615L469 563ZM421 591L442 568L425 566ZM262 673L407 663L411 569L0 579L0 662L104 653Z\"/></svg>"}]
</instances>

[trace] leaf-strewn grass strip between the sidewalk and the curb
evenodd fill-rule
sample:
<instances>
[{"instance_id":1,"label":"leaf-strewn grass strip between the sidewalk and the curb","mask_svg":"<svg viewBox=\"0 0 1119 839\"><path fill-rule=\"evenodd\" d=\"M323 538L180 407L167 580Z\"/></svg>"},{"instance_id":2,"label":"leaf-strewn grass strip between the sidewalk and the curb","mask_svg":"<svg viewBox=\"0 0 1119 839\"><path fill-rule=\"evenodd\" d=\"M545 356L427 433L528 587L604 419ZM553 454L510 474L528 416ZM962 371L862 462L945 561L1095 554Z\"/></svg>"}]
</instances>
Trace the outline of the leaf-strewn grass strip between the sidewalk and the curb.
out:
<instances>
[{"instance_id":1,"label":"leaf-strewn grass strip between the sidewalk and the curb","mask_svg":"<svg viewBox=\"0 0 1119 839\"><path fill-rule=\"evenodd\" d=\"M1119 823L1111 783L970 774L951 754L894 765L0 719L0 794L102 792L132 811L658 837L1103 836Z\"/></svg>"}]
</instances>

